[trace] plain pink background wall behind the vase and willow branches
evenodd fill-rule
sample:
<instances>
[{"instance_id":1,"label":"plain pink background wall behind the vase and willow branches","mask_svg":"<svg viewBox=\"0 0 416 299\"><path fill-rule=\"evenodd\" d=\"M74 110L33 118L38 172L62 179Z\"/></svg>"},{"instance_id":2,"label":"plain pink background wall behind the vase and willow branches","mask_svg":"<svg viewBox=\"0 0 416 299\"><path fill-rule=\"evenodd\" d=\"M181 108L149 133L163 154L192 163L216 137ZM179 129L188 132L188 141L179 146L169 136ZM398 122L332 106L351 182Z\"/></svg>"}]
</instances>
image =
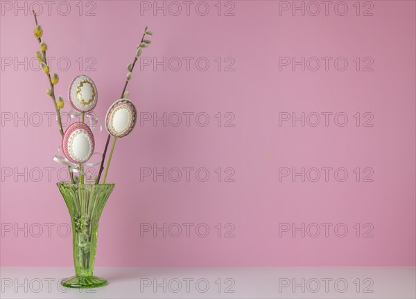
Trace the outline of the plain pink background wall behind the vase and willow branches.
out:
<instances>
[{"instance_id":1,"label":"plain pink background wall behind the vase and willow branches","mask_svg":"<svg viewBox=\"0 0 416 299\"><path fill-rule=\"evenodd\" d=\"M66 96L76 75L89 75L101 118L119 98L144 26L155 33L144 56L166 57L166 71L162 64L137 67L128 87L141 123L116 144L108 176L116 188L101 218L96 265L415 265L414 1L361 2L358 15L356 1L346 1L344 16L335 4L327 15L322 5L313 16L316 6L308 1L304 16L279 13L284 1L223 2L220 16L217 1L206 2L205 16L199 1L189 16L184 4L175 16L177 6L164 1L157 3L166 5L166 16L141 10L153 1L89 1L82 11L69 1L68 14L67 4L55 1L50 16L43 1L19 1L20 10L16 3L1 1L2 266L72 264L69 214L55 186L62 167L52 161L60 136L48 123L53 106L33 60L33 17L25 15L39 3L52 70L60 75L57 93ZM182 62L177 71L172 57ZM183 57L193 57L189 70ZM293 71L279 57L305 57L305 70L294 65ZM200 69L209 61L207 71L196 67L198 58ZM312 71L316 60L321 65ZM193 113L189 126L187 112ZM301 120L284 121L302 112L304 127ZM321 120L315 127L314 112ZM327 126L325 112L332 113ZM166 127L146 120L164 113L173 113ZM177 127L175 113L182 115ZM205 115L209 123L202 127ZM234 126L226 126L232 118L227 124ZM98 151L106 137L96 135ZM164 182L141 178L145 167L194 170L189 182L184 170L180 181L171 170ZM202 171L196 178L200 167L209 172L205 182ZM313 167L320 170L316 182ZM333 169L327 181L322 167ZM290 174L283 176L286 168ZM302 168L305 181L292 179ZM340 182L343 169L348 177ZM234 182L227 182L232 173ZM166 237L141 232L143 223L166 224ZM178 237L175 223L182 227ZM189 237L184 223L193 224ZM304 237L302 231L292 236L293 224L304 224ZM209 234L201 237L206 227Z\"/></svg>"}]
</instances>

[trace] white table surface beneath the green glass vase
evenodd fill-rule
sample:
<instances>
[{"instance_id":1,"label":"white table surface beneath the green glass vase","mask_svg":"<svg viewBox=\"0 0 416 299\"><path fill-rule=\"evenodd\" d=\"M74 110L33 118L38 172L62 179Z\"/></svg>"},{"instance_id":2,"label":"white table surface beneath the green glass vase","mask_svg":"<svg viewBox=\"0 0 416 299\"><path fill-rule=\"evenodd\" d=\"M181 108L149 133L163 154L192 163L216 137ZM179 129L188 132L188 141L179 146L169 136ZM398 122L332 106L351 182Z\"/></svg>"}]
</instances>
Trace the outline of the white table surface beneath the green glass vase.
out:
<instances>
[{"instance_id":1,"label":"white table surface beneath the green glass vase","mask_svg":"<svg viewBox=\"0 0 416 299\"><path fill-rule=\"evenodd\" d=\"M415 267L381 266L96 267L94 275L106 278L107 286L68 289L59 282L73 275L71 267L1 267L0 297L416 298L415 272Z\"/></svg>"}]
</instances>

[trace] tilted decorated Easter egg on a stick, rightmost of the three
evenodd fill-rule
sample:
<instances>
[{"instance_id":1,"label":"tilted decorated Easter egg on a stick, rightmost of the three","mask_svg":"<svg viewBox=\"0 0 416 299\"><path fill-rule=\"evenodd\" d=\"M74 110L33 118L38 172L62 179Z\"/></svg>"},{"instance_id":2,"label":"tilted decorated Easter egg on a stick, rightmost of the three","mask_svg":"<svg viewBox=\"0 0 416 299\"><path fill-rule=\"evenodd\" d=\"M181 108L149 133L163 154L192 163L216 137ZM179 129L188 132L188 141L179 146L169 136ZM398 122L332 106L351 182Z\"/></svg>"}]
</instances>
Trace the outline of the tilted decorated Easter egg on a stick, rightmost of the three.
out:
<instances>
[{"instance_id":1,"label":"tilted decorated Easter egg on a stick, rightmost of the three","mask_svg":"<svg viewBox=\"0 0 416 299\"><path fill-rule=\"evenodd\" d=\"M105 128L114 137L125 137L136 125L137 111L128 99L116 100L105 116Z\"/></svg>"}]
</instances>

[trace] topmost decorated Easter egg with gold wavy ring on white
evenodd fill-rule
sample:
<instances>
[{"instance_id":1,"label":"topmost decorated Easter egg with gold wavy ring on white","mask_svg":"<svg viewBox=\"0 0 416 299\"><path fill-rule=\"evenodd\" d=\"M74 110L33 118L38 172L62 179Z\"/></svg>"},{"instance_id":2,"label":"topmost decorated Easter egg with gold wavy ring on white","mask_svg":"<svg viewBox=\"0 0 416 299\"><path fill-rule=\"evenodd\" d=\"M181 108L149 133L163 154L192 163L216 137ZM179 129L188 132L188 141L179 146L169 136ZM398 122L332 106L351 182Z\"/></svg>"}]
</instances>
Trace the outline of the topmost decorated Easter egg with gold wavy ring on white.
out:
<instances>
[{"instance_id":1,"label":"topmost decorated Easter egg with gold wavy ring on white","mask_svg":"<svg viewBox=\"0 0 416 299\"><path fill-rule=\"evenodd\" d=\"M97 105L97 88L91 78L86 75L79 75L69 85L68 98L76 111L92 111Z\"/></svg>"}]
</instances>

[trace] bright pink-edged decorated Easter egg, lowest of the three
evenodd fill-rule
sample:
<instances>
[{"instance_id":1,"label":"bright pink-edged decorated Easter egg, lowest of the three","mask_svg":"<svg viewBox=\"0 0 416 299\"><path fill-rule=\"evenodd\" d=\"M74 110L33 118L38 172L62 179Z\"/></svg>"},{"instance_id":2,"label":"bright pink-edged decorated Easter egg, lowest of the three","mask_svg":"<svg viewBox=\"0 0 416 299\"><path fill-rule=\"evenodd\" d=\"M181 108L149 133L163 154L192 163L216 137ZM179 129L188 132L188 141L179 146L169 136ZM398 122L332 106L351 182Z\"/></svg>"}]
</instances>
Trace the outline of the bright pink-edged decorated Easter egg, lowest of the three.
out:
<instances>
[{"instance_id":1,"label":"bright pink-edged decorated Easter egg, lowest of the three","mask_svg":"<svg viewBox=\"0 0 416 299\"><path fill-rule=\"evenodd\" d=\"M85 123L73 123L62 138L62 152L72 163L86 162L94 152L94 135Z\"/></svg>"}]
</instances>

